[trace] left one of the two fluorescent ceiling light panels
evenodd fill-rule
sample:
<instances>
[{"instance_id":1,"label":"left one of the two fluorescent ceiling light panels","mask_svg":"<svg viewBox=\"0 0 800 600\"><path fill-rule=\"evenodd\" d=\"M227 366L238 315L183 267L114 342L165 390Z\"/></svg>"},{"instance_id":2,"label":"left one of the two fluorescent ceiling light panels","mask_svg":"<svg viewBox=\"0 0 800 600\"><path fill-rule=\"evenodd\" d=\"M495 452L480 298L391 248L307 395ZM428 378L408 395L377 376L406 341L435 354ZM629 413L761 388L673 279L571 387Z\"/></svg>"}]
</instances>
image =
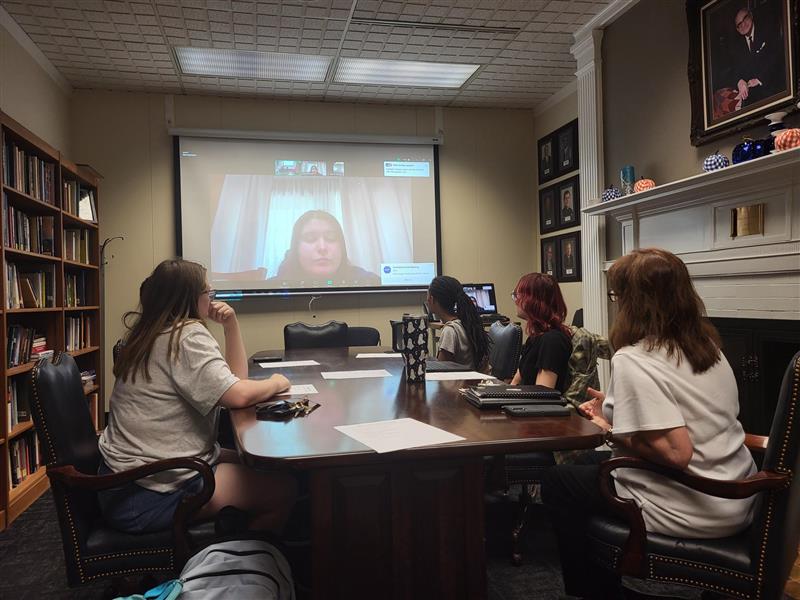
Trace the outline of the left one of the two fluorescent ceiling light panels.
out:
<instances>
[{"instance_id":1,"label":"left one of the two fluorescent ceiling light panels","mask_svg":"<svg viewBox=\"0 0 800 600\"><path fill-rule=\"evenodd\" d=\"M186 75L325 81L330 56L252 52L217 48L175 48L181 71Z\"/></svg>"}]
</instances>

